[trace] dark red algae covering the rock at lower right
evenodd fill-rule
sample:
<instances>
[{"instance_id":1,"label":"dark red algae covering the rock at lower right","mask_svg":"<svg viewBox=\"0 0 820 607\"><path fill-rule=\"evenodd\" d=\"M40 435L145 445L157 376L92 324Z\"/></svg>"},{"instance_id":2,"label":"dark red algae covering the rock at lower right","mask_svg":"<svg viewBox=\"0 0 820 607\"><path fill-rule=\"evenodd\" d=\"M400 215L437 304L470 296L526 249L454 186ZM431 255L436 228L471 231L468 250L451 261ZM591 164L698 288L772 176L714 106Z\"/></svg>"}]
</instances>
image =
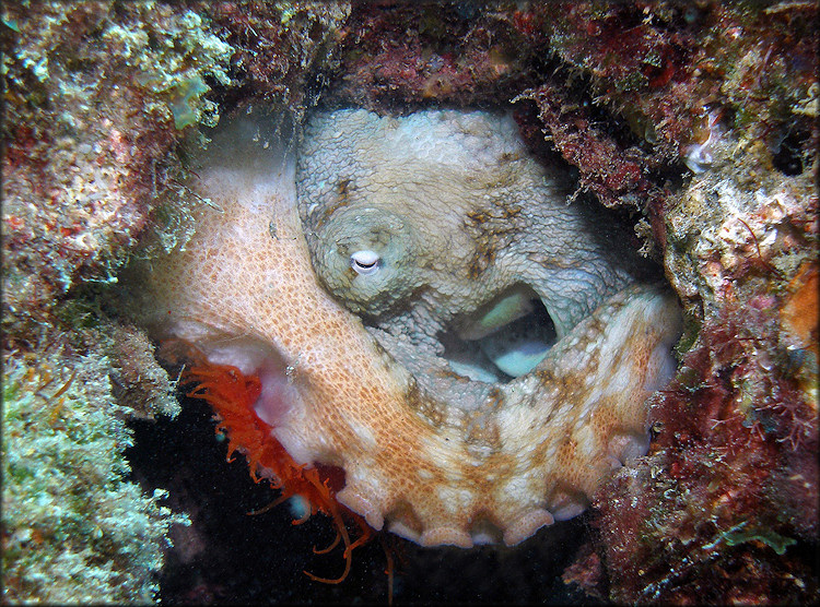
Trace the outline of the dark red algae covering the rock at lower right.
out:
<instances>
[{"instance_id":1,"label":"dark red algae covering the rock at lower right","mask_svg":"<svg viewBox=\"0 0 820 607\"><path fill-rule=\"evenodd\" d=\"M817 413L778 366L772 313L729 307L701 329L655 397L651 454L597 497L616 600L790 603L817 593L805 557L818 528Z\"/></svg>"}]
</instances>

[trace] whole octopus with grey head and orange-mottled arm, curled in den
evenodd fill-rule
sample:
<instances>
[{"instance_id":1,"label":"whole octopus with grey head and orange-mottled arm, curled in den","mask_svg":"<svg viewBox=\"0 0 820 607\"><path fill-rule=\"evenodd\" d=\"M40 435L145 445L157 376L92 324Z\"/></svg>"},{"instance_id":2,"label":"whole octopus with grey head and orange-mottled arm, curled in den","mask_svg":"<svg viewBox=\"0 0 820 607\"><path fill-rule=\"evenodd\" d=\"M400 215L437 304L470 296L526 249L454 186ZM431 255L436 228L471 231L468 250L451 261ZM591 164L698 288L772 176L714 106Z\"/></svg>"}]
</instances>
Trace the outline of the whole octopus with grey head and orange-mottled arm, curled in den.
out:
<instances>
[{"instance_id":1,"label":"whole octopus with grey head and orange-mottled arm, curled in den","mask_svg":"<svg viewBox=\"0 0 820 607\"><path fill-rule=\"evenodd\" d=\"M423 546L512 546L645 453L677 300L508 116L316 112L298 147L263 127L214 134L190 185L210 204L141 313L257 377L255 415L343 471L340 504Z\"/></svg>"}]
</instances>

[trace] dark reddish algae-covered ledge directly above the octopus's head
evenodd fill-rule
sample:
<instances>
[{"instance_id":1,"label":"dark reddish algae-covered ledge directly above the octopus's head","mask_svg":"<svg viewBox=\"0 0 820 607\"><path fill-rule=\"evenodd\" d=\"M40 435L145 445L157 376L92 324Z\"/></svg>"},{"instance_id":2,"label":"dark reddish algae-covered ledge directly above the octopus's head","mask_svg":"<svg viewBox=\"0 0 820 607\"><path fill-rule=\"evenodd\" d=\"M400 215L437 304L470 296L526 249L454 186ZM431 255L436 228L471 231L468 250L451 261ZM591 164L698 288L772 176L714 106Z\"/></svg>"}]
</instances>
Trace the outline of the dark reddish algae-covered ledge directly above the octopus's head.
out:
<instances>
[{"instance_id":1,"label":"dark reddish algae-covered ledge directly above the octopus's head","mask_svg":"<svg viewBox=\"0 0 820 607\"><path fill-rule=\"evenodd\" d=\"M354 2L328 95L374 110L509 99L535 83L506 10L469 3Z\"/></svg>"}]
</instances>

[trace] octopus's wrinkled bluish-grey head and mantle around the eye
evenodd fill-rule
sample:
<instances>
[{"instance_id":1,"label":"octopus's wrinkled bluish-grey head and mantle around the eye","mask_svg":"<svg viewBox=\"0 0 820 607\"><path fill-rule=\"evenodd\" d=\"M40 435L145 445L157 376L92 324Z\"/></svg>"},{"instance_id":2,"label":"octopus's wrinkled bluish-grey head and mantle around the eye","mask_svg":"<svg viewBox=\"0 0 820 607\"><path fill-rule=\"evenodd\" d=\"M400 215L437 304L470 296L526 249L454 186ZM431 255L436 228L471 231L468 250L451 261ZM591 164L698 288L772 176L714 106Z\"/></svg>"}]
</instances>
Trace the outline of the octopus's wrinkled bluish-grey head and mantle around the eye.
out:
<instances>
[{"instance_id":1,"label":"octopus's wrinkled bluish-grey head and mantle around the eye","mask_svg":"<svg viewBox=\"0 0 820 607\"><path fill-rule=\"evenodd\" d=\"M569 203L570 192L560 167L538 163L503 112L316 112L296 167L319 281L430 394L467 409L492 388L454 377L441 334L497 331L526 311L509 295L522 294L523 306L529 291L560 338L634 282L640 263L623 235ZM378 255L365 275L351 267L362 250ZM507 313L487 321L505 296ZM497 379L490 366L485 382Z\"/></svg>"}]
</instances>

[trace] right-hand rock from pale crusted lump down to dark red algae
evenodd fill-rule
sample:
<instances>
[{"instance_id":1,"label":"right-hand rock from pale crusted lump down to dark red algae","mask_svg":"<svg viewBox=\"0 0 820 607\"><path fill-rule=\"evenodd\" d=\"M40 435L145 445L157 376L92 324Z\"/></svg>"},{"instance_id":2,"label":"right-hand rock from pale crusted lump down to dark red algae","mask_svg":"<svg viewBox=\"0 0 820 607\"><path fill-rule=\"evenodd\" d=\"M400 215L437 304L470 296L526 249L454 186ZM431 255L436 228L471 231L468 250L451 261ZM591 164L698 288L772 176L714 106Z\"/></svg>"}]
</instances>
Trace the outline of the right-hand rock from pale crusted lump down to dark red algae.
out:
<instances>
[{"instance_id":1,"label":"right-hand rock from pale crusted lump down to dark red algae","mask_svg":"<svg viewBox=\"0 0 820 607\"><path fill-rule=\"evenodd\" d=\"M623 600L817 592L789 547L818 528L818 195L735 136L667 202L666 266L698 326L649 413L651 455L598 501Z\"/></svg>"}]
</instances>

